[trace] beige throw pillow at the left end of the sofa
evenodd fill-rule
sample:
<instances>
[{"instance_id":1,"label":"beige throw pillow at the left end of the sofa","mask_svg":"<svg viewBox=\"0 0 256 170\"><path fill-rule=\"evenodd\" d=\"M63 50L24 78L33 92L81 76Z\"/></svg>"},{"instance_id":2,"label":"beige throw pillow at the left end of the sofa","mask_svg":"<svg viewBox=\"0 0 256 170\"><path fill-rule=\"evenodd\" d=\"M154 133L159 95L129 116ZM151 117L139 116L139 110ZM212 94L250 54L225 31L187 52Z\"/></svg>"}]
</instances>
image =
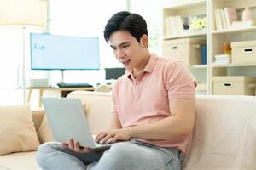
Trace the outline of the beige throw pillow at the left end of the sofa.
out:
<instances>
[{"instance_id":1,"label":"beige throw pillow at the left end of the sofa","mask_svg":"<svg viewBox=\"0 0 256 170\"><path fill-rule=\"evenodd\" d=\"M0 155L38 148L29 105L0 107Z\"/></svg>"}]
</instances>

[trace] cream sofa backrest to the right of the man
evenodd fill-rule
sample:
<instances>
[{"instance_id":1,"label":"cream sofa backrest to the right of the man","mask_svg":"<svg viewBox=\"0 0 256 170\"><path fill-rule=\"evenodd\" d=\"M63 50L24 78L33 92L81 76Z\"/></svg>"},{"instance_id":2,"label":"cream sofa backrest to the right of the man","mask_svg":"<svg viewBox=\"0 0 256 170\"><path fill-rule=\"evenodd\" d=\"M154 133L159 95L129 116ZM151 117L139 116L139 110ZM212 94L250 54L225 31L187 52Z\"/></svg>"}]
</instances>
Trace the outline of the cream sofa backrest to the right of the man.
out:
<instances>
[{"instance_id":1,"label":"cream sofa backrest to the right of the man","mask_svg":"<svg viewBox=\"0 0 256 170\"><path fill-rule=\"evenodd\" d=\"M197 96L184 170L256 169L256 98Z\"/></svg>"}]
</instances>

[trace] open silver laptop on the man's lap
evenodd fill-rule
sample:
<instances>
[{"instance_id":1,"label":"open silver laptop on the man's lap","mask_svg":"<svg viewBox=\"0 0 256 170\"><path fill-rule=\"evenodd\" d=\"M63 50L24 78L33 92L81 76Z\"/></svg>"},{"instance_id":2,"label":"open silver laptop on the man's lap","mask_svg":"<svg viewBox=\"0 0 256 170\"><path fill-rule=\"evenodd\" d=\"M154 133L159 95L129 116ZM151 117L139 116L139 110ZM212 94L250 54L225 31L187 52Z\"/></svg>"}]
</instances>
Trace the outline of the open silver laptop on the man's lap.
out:
<instances>
[{"instance_id":1,"label":"open silver laptop on the man's lap","mask_svg":"<svg viewBox=\"0 0 256 170\"><path fill-rule=\"evenodd\" d=\"M42 104L55 141L68 143L69 139L74 139L92 149L111 145L95 142L80 99L42 98Z\"/></svg>"}]
</instances>

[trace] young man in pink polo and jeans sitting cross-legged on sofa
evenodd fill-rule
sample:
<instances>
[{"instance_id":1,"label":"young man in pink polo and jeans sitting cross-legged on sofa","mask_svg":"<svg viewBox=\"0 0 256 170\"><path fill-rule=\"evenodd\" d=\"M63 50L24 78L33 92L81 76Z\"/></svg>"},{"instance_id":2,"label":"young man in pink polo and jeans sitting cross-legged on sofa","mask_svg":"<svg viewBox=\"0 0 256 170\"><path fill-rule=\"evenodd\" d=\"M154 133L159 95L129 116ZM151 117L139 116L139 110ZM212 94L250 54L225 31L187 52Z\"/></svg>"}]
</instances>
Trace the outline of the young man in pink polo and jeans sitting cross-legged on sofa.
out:
<instances>
[{"instance_id":1,"label":"young man in pink polo and jeans sitting cross-legged on sofa","mask_svg":"<svg viewBox=\"0 0 256 170\"><path fill-rule=\"evenodd\" d=\"M38 164L45 170L180 169L195 122L195 78L180 61L149 53L147 24L138 14L114 14L104 37L126 74L113 87L110 128L96 141L119 142L99 152L73 139L42 144Z\"/></svg>"}]
</instances>

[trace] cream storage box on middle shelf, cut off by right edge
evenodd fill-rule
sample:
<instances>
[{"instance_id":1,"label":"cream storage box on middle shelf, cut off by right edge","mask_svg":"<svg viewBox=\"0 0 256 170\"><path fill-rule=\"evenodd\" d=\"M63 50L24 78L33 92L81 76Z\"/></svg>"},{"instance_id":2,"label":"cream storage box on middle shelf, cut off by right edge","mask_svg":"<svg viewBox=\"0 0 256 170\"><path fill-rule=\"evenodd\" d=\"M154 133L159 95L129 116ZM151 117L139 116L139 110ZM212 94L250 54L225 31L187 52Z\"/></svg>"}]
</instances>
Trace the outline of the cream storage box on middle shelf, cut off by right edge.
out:
<instances>
[{"instance_id":1,"label":"cream storage box on middle shelf, cut off by right edge","mask_svg":"<svg viewBox=\"0 0 256 170\"><path fill-rule=\"evenodd\" d=\"M231 42L232 64L256 64L256 41Z\"/></svg>"}]
</instances>

